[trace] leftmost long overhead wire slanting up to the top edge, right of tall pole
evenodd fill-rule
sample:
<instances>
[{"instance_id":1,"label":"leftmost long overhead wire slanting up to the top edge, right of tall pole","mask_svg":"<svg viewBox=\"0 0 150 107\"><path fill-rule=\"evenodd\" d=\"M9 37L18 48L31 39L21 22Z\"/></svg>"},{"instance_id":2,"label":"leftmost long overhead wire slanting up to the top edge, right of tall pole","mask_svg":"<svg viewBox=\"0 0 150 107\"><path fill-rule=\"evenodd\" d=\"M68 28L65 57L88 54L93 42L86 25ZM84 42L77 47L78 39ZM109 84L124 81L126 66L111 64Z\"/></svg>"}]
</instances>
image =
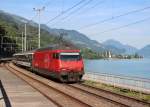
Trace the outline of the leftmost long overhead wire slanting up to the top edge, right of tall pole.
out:
<instances>
[{"instance_id":1,"label":"leftmost long overhead wire slanting up to the top edge, right of tall pole","mask_svg":"<svg viewBox=\"0 0 150 107\"><path fill-rule=\"evenodd\" d=\"M45 24L48 24L52 21L54 21L55 19L57 19L58 17L62 16L63 14L66 14L67 12L69 12L70 10L74 9L75 7L77 7L78 5L80 5L81 3L85 2L86 0L81 0L78 3L76 3L75 5L73 5L72 7L64 10L63 12L61 12L60 14L56 15L55 17L51 18L49 21L47 21Z\"/></svg>"}]
</instances>

